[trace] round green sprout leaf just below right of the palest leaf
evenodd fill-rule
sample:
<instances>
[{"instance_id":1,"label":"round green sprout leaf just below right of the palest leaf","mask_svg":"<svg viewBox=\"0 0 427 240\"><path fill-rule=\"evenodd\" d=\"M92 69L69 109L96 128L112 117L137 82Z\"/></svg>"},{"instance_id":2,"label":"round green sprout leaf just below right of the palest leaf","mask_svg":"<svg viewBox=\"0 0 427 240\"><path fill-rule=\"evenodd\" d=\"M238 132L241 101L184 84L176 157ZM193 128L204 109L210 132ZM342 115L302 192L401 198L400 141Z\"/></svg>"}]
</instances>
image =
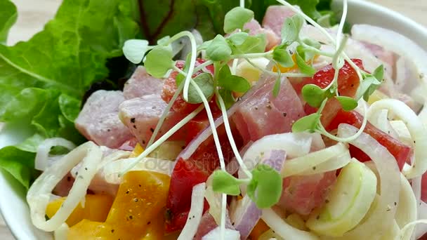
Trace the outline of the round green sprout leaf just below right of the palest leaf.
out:
<instances>
[{"instance_id":1,"label":"round green sprout leaf just below right of the palest leaf","mask_svg":"<svg viewBox=\"0 0 427 240\"><path fill-rule=\"evenodd\" d=\"M147 54L144 62L145 69L150 75L162 78L175 66L172 58L172 50L170 48L157 46Z\"/></svg>"}]
</instances>

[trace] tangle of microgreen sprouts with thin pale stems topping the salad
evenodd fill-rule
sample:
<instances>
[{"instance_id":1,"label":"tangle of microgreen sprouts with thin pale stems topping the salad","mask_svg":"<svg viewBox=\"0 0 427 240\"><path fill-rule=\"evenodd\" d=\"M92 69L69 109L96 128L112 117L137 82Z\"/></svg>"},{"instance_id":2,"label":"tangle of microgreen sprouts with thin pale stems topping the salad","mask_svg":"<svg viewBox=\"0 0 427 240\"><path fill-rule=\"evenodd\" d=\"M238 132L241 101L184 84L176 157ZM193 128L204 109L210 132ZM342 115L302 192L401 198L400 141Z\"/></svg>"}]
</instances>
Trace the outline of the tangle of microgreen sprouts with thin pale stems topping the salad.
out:
<instances>
[{"instance_id":1,"label":"tangle of microgreen sprouts with thin pale stems topping the salad","mask_svg":"<svg viewBox=\"0 0 427 240\"><path fill-rule=\"evenodd\" d=\"M328 133L322 123L320 122L322 111L327 105L328 100L335 98L341 103L344 110L349 111L357 107L357 100L364 98L367 100L383 79L383 67L377 68L374 73L369 74L362 71L360 67L355 65L355 62L350 60L344 48L348 36L342 34L344 22L346 20L347 1L344 0L344 11L339 25L339 32L336 39L329 34L323 27L309 18L306 14L299 11L291 4L284 0L277 0L280 4L288 6L296 12L291 18L287 18L282 26L282 42L279 46L276 46L273 50L265 52L267 46L267 39L265 34L251 35L244 31L244 25L254 18L254 12L244 8L244 0L240 0L240 6L233 8L225 15L224 20L224 32L229 35L224 37L217 35L214 39L204 41L201 45L197 46L195 37L191 32L185 31L180 32L172 37L165 37L157 42L157 46L148 46L146 41L127 41L124 46L124 53L126 58L132 62L139 63L144 59L145 53L147 53L144 65L147 72L152 76L164 77L171 70L178 72L176 77L176 84L178 89L173 95L172 100L166 107L162 117L157 124L152 138L148 142L147 149L140 154L134 164L128 168L129 171L135 166L138 161L143 159L145 156L150 154L154 149L167 140L173 133L178 131L183 125L185 125L190 119L195 117L202 109L206 109L206 113L209 119L209 125L211 127L213 140L216 145L218 152L218 159L220 162L221 170L213 173L213 190L216 192L222 192L222 212L221 212L221 239L223 239L223 229L225 229L225 211L226 211L226 194L237 195L240 194L239 186L247 185L247 194L252 201L259 208L268 208L277 203L282 193L282 178L270 166L265 164L258 164L254 170L249 171L247 166L244 165L242 156L239 155L237 146L233 139L230 124L228 122L227 109L235 103L233 93L246 93L251 88L251 84L247 79L241 76L236 76L236 69L239 60L246 60L250 65L261 69L262 72L267 74L275 74L277 80L272 89L274 96L280 93L280 86L282 84L282 76L287 77L312 77L315 75L315 68L313 62L318 55L324 55L332 60L332 66L335 69L334 79L327 88L320 88L316 85L306 85L302 89L303 99L312 107L318 107L317 112L304 116L294 123L292 131L301 132L317 132L327 137L338 140L341 142L348 142L357 138L364 130L367 124L367 118L364 116L362 127L360 130L350 138L337 138L334 135ZM327 36L331 41L331 44L335 46L335 53L327 53L322 51L321 44L313 39L301 39L300 32L303 28L305 21L310 22L314 27L320 29L320 31ZM188 54L185 66L183 70L175 66L173 61L173 49L171 44L182 38L188 37L190 39L191 52ZM202 53L206 62L202 63L198 67L195 67L197 57ZM272 62L270 66L275 66L275 72L272 69L262 69L254 64L251 59L254 58L266 58ZM228 66L228 63L232 61L232 68ZM345 95L339 95L339 71L345 64L348 64L355 69L357 76L360 79L360 87L357 89L355 98L350 98ZM213 65L213 76L206 67ZM298 69L298 72L293 71L282 71L281 68L287 69ZM202 70L202 73L197 74L193 79L193 74L196 74ZM168 132L162 135L159 140L155 141L157 133L161 128L166 115L169 113L173 102L175 102L178 95L182 94L183 99L191 104L200 104L197 109L181 120L176 126L171 128ZM218 107L221 109L222 117L224 121L225 131L228 135L228 140L232 147L232 151L236 156L237 162L239 163L242 171L248 176L247 179L237 179L225 171L225 161L219 142L218 133L216 132L216 125L209 107L209 101L211 98L215 98ZM364 104L366 112L366 105ZM366 115L366 114L365 114Z\"/></svg>"}]
</instances>

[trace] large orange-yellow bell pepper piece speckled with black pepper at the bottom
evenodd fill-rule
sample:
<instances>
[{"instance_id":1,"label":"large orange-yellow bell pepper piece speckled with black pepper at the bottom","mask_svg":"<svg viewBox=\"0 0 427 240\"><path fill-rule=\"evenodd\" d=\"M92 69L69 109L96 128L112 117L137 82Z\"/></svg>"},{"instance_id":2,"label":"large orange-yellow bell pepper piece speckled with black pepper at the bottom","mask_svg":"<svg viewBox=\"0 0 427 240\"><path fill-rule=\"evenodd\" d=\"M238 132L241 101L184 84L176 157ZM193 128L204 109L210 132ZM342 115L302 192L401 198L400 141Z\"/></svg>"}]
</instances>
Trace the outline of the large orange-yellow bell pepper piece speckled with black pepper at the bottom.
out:
<instances>
[{"instance_id":1,"label":"large orange-yellow bell pepper piece speckled with black pepper at the bottom","mask_svg":"<svg viewBox=\"0 0 427 240\"><path fill-rule=\"evenodd\" d=\"M70 227L68 239L141 239L154 220L163 215L169 182L169 176L161 173L126 173L107 220L83 220Z\"/></svg>"}]
</instances>

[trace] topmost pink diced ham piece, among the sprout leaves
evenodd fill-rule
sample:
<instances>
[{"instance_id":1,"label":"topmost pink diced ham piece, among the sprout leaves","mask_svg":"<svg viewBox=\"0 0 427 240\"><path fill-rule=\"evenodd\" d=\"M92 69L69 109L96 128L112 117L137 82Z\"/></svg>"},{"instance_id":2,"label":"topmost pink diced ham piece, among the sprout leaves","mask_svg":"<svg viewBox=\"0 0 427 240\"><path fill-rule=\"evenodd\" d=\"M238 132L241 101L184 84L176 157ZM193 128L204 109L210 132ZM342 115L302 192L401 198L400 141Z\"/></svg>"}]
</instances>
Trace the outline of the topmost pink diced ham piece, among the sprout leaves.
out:
<instances>
[{"instance_id":1,"label":"topmost pink diced ham piece, among the sprout leaves","mask_svg":"<svg viewBox=\"0 0 427 240\"><path fill-rule=\"evenodd\" d=\"M282 36L282 25L287 18L295 15L294 11L287 6L269 6L265 11L263 27L271 29L277 36Z\"/></svg>"}]
</instances>

